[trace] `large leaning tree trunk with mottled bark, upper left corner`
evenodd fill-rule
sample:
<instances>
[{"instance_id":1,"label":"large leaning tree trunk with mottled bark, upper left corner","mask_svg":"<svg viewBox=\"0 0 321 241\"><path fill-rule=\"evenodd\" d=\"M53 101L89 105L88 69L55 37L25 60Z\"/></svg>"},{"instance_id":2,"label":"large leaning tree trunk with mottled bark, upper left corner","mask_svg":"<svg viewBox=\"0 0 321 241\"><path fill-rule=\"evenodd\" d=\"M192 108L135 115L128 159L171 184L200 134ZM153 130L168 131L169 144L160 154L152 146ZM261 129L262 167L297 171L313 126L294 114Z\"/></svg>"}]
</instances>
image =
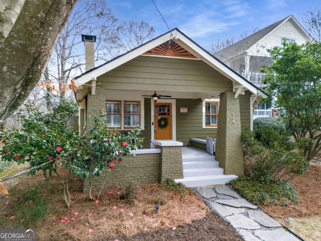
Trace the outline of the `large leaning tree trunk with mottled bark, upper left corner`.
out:
<instances>
[{"instance_id":1,"label":"large leaning tree trunk with mottled bark, upper left corner","mask_svg":"<svg viewBox=\"0 0 321 241\"><path fill-rule=\"evenodd\" d=\"M15 1L17 5L21 2ZM9 2L0 0L0 4ZM25 1L14 26L0 44L0 122L22 104L39 81L76 2ZM1 13L0 21L2 16ZM5 33L8 24L2 22L1 25L0 31Z\"/></svg>"}]
</instances>

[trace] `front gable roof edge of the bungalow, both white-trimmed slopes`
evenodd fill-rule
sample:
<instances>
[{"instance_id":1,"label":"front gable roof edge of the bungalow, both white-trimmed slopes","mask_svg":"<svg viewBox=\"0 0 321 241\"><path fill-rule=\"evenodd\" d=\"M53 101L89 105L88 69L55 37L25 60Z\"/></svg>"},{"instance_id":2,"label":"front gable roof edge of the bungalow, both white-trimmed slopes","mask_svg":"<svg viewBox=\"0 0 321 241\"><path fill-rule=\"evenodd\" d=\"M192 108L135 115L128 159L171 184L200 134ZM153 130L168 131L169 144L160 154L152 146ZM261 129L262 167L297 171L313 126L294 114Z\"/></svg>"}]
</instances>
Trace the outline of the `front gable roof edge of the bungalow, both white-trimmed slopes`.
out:
<instances>
[{"instance_id":1,"label":"front gable roof edge of the bungalow, both white-trimmed slopes","mask_svg":"<svg viewBox=\"0 0 321 241\"><path fill-rule=\"evenodd\" d=\"M214 57L212 54L207 52L205 49L200 47L197 43L195 43L177 28L75 77L75 85L81 86L91 81L92 79L95 79L98 76L128 62L129 60L132 60L139 55L146 54L146 52L153 50L157 46L161 46L169 40L172 40L173 42L181 46L184 50L187 50L193 56L203 60L209 66L220 72L225 77L229 78L231 81L233 81L235 88L240 88L240 86L242 86L243 89L245 88L246 90L251 91L253 94L258 93L258 88L254 84L246 80L244 77L236 73L233 69L231 69L219 59Z\"/></svg>"}]
</instances>

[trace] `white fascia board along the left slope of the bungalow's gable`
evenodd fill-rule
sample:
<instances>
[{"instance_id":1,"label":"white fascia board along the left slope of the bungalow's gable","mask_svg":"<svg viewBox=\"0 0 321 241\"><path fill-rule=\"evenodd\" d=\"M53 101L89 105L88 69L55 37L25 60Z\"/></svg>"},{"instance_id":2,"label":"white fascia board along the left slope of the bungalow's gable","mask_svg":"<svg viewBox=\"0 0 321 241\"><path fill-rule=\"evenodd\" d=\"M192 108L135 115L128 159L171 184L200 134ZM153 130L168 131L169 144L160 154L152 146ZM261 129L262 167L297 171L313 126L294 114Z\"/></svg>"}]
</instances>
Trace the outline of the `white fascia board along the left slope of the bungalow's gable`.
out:
<instances>
[{"instance_id":1,"label":"white fascia board along the left slope of the bungalow's gable","mask_svg":"<svg viewBox=\"0 0 321 241\"><path fill-rule=\"evenodd\" d=\"M124 54L123 56L120 56L114 60L111 60L109 63L87 73L84 74L83 76L79 77L78 79L75 80L75 85L80 86L83 85L89 81L91 81L93 78L97 78L100 75L103 75L104 73L128 62L129 60L132 60L136 58L137 56L145 53L146 51L165 43L166 41L171 39L171 33L168 33L166 35L163 35L149 43L146 43L145 45L141 46L140 48L134 49L127 54Z\"/></svg>"}]
</instances>

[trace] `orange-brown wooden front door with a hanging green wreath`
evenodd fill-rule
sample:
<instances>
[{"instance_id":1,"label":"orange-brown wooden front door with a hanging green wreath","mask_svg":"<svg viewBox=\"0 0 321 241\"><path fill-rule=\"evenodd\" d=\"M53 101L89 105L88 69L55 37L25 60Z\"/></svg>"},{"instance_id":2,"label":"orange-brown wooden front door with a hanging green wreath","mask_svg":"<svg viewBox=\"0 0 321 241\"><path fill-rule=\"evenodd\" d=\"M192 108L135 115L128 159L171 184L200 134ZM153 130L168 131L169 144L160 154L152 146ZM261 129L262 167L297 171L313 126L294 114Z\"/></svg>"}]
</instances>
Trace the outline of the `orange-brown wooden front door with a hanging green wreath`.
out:
<instances>
[{"instance_id":1,"label":"orange-brown wooden front door with a hanging green wreath","mask_svg":"<svg viewBox=\"0 0 321 241\"><path fill-rule=\"evenodd\" d=\"M172 140L172 103L154 103L154 139Z\"/></svg>"}]
</instances>

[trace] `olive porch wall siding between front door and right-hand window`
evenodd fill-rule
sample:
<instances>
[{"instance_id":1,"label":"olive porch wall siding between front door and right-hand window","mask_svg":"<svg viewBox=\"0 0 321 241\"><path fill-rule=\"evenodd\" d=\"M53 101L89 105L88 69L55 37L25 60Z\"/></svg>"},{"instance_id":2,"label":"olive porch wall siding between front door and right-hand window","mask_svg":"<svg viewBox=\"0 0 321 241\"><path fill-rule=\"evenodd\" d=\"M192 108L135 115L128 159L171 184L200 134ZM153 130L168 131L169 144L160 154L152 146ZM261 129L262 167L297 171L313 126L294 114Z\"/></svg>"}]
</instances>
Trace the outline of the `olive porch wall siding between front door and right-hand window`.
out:
<instances>
[{"instance_id":1,"label":"olive porch wall siding between front door and right-hand window","mask_svg":"<svg viewBox=\"0 0 321 241\"><path fill-rule=\"evenodd\" d=\"M187 113L181 113L180 108L188 108ZM206 137L216 138L216 128L202 127L202 100L176 100L176 140L184 146L191 146L190 138L206 140Z\"/></svg>"}]
</instances>

